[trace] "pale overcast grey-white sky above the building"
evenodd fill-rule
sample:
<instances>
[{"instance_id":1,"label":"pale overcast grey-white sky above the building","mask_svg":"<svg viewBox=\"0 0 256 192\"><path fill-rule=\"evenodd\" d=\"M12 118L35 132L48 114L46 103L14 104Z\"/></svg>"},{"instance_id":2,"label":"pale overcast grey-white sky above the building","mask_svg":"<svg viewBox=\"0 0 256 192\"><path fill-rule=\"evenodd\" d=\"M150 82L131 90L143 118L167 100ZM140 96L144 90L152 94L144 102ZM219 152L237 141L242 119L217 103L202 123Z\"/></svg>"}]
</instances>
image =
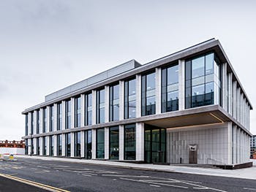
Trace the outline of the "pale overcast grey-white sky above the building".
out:
<instances>
[{"instance_id":1,"label":"pale overcast grey-white sky above the building","mask_svg":"<svg viewBox=\"0 0 256 192\"><path fill-rule=\"evenodd\" d=\"M0 140L21 139L21 112L48 93L132 58L146 64L213 37L256 108L255 2L2 0ZM252 134L255 126L251 111Z\"/></svg>"}]
</instances>

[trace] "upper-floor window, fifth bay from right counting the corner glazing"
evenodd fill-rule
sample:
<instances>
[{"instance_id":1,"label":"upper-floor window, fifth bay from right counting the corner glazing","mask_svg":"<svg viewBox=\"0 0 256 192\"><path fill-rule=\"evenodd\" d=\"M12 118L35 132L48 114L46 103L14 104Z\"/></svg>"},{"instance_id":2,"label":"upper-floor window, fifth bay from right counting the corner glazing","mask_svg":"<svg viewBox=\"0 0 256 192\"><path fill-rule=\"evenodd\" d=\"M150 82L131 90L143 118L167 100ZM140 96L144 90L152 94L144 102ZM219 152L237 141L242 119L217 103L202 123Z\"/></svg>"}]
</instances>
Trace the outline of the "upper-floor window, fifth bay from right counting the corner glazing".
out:
<instances>
[{"instance_id":1,"label":"upper-floor window, fifth bay from right counting the corner glazing","mask_svg":"<svg viewBox=\"0 0 256 192\"><path fill-rule=\"evenodd\" d=\"M109 120L119 120L119 85L110 86L109 92L110 112Z\"/></svg>"}]
</instances>

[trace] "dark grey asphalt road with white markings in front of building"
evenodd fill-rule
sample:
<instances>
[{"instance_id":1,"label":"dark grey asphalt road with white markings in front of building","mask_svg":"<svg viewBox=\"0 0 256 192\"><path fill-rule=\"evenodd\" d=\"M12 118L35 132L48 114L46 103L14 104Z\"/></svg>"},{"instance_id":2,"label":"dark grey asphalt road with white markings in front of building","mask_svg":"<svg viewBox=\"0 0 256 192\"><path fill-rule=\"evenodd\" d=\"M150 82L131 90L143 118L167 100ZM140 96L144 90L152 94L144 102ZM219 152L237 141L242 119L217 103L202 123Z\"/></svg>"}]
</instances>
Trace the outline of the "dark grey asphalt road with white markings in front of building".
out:
<instances>
[{"instance_id":1,"label":"dark grey asphalt road with white markings in front of building","mask_svg":"<svg viewBox=\"0 0 256 192\"><path fill-rule=\"evenodd\" d=\"M256 191L256 180L30 158L0 161L0 173L67 191Z\"/></svg>"}]
</instances>

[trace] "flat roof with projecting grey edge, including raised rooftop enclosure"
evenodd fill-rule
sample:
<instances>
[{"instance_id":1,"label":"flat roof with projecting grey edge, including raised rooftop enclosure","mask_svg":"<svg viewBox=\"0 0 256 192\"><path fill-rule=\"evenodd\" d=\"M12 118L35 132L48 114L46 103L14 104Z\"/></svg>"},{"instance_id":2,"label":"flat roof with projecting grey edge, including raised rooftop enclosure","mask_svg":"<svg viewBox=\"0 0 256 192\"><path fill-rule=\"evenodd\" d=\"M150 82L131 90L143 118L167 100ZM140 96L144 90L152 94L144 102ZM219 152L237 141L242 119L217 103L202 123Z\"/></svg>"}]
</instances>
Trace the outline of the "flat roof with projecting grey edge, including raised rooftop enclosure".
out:
<instances>
[{"instance_id":1,"label":"flat roof with projecting grey edge, including raised rooftop enclosure","mask_svg":"<svg viewBox=\"0 0 256 192\"><path fill-rule=\"evenodd\" d=\"M238 82L238 87L241 88L241 91L244 93L244 96L246 97L246 101L249 103L249 106L251 107L251 110L252 110L252 104L249 101L249 98L246 95L244 88L241 85L241 82L238 80L238 76L234 71L233 66L230 64L230 61L227 58L227 55L223 50L222 45L220 44L219 40L213 38L213 39L208 39L205 42L201 42L197 45L187 47L184 50L179 50L176 53L172 53L162 58L158 58L157 60L151 61L147 64L140 65L135 60L128 61L127 63L113 67L112 69L109 69L105 72L94 75L93 77L90 77L86 80L70 85L67 88L51 93L45 96L45 102L41 104L37 104L34 107L29 107L28 109L24 110L22 113L26 114L27 112L31 112L41 107L45 107L49 104L53 104L58 101L62 101L64 99L68 99L69 97L76 96L80 93L85 93L92 89L99 88L103 85L108 85L112 82L116 82L118 80L128 78L132 75L146 72L150 69L154 69L155 67L159 67L174 61L178 61L178 59L187 59L195 55L207 53L210 50L214 50L217 53L222 63L227 63L227 70L230 72L233 72L233 78ZM115 74L115 72L113 71L115 71L116 69L118 70ZM124 69L128 69L128 70L124 70ZM90 83L90 80L91 80L91 83Z\"/></svg>"}]
</instances>

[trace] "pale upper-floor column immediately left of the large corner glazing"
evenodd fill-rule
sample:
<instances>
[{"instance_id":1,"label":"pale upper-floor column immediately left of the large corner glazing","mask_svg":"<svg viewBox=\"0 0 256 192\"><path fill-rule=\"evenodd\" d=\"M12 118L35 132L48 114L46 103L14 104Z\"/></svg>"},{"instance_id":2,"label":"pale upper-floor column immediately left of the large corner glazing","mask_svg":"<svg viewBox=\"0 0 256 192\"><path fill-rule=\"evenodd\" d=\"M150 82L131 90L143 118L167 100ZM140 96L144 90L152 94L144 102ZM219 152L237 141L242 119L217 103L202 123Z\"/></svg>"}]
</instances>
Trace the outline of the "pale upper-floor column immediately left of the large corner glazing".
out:
<instances>
[{"instance_id":1,"label":"pale upper-floor column immediately left of the large corner glazing","mask_svg":"<svg viewBox=\"0 0 256 192\"><path fill-rule=\"evenodd\" d=\"M185 110L185 61L178 60L178 110Z\"/></svg>"}]
</instances>

